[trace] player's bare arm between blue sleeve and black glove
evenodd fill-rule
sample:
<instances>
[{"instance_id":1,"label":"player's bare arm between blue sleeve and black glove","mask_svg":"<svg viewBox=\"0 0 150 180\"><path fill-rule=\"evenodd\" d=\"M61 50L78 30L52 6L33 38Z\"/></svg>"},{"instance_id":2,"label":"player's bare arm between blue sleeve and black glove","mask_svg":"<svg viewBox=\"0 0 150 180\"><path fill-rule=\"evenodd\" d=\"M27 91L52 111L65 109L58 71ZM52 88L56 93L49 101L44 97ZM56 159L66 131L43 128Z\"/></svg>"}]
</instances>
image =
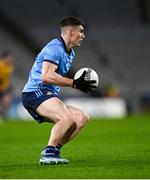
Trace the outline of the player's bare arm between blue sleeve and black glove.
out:
<instances>
[{"instance_id":1,"label":"player's bare arm between blue sleeve and black glove","mask_svg":"<svg viewBox=\"0 0 150 180\"><path fill-rule=\"evenodd\" d=\"M47 84L72 87L73 79L59 75L56 69L56 64L44 61L42 65L42 81Z\"/></svg>"}]
</instances>

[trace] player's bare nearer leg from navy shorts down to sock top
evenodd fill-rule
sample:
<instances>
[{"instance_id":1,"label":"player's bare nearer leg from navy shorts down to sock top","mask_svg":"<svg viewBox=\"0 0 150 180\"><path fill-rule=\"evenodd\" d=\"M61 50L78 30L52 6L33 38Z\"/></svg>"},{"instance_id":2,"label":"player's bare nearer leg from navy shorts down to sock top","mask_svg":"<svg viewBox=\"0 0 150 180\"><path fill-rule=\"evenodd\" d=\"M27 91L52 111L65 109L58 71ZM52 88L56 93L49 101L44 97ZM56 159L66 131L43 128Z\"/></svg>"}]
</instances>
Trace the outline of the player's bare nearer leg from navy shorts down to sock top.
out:
<instances>
[{"instance_id":1,"label":"player's bare nearer leg from navy shorts down to sock top","mask_svg":"<svg viewBox=\"0 0 150 180\"><path fill-rule=\"evenodd\" d=\"M57 97L50 98L39 105L36 112L49 122L55 123L52 130L49 146L56 146L70 129L74 128L72 114Z\"/></svg>"}]
</instances>

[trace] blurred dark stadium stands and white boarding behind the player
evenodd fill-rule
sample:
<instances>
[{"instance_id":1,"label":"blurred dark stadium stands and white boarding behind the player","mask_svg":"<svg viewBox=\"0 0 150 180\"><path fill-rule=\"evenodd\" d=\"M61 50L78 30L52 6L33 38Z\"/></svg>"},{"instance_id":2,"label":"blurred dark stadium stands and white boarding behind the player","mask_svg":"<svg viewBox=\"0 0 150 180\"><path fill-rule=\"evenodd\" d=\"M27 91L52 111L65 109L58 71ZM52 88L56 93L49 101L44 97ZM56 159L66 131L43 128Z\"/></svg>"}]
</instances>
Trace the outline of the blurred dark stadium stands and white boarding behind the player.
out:
<instances>
[{"instance_id":1,"label":"blurred dark stadium stands and white boarding behind the player","mask_svg":"<svg viewBox=\"0 0 150 180\"><path fill-rule=\"evenodd\" d=\"M60 35L60 20L70 15L85 22L86 40L75 49L68 76L90 67L100 84L89 95L62 88L64 102L98 117L149 113L149 0L0 0L1 59L7 51L13 56L7 117L30 118L21 103L29 70L41 48ZM2 95L0 101L3 109Z\"/></svg>"}]
</instances>

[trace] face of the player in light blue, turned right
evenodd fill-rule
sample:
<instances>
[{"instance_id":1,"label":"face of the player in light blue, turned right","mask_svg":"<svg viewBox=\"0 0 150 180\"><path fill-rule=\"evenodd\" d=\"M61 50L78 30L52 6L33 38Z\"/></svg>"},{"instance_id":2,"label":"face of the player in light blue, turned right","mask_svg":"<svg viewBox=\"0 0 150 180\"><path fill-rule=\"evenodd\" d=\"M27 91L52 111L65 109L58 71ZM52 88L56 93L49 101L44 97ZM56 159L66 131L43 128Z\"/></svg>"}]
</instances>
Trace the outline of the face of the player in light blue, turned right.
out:
<instances>
[{"instance_id":1,"label":"face of the player in light blue, turned right","mask_svg":"<svg viewBox=\"0 0 150 180\"><path fill-rule=\"evenodd\" d=\"M74 46L80 46L84 38L85 38L85 35L84 35L83 26L82 25L74 26L72 28L72 33L71 33L72 44Z\"/></svg>"}]
</instances>

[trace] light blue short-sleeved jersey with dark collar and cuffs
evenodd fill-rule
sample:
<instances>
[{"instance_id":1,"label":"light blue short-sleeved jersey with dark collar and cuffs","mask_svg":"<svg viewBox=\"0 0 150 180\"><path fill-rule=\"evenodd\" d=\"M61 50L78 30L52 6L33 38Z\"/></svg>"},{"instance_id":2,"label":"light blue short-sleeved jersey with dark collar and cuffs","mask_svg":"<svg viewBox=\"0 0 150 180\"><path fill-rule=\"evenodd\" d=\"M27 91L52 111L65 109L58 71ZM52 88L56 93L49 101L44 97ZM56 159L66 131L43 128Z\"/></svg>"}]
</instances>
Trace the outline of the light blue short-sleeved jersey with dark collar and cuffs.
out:
<instances>
[{"instance_id":1,"label":"light blue short-sleeved jersey with dark collar and cuffs","mask_svg":"<svg viewBox=\"0 0 150 180\"><path fill-rule=\"evenodd\" d=\"M65 42L61 37L50 41L37 55L23 92L48 89L51 92L58 94L60 86L42 82L42 63L43 61L48 61L56 64L56 72L64 76L69 71L74 57L74 50L71 49L70 52L67 52Z\"/></svg>"}]
</instances>

